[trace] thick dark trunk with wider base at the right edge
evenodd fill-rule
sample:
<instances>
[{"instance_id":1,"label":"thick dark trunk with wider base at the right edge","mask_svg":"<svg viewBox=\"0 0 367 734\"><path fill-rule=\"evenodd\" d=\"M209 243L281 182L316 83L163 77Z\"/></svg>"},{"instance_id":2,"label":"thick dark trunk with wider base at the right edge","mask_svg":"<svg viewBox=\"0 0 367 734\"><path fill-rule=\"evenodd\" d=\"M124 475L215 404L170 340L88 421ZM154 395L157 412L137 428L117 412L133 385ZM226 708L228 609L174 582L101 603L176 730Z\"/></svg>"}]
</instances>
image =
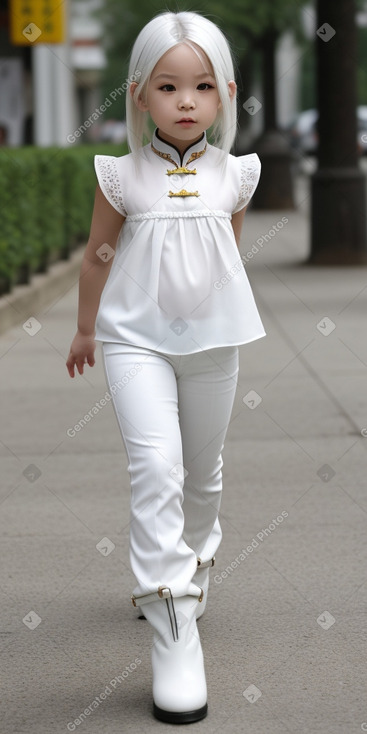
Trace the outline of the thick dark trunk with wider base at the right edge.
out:
<instances>
[{"instance_id":1,"label":"thick dark trunk with wider base at the right edge","mask_svg":"<svg viewBox=\"0 0 367 734\"><path fill-rule=\"evenodd\" d=\"M355 14L355 0L317 0L319 168L311 178L312 264L367 263L365 177L357 152Z\"/></svg>"}]
</instances>

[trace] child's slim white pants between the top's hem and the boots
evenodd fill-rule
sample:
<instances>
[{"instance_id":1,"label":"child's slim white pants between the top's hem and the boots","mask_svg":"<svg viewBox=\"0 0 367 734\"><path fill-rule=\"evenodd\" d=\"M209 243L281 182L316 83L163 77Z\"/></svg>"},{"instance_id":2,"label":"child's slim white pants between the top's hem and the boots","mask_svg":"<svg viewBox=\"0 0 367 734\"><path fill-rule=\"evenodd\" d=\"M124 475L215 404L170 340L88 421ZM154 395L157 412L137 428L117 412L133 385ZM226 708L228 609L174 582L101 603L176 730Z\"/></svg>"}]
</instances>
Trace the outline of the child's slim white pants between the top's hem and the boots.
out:
<instances>
[{"instance_id":1,"label":"child's slim white pants between the top's hem and the boots","mask_svg":"<svg viewBox=\"0 0 367 734\"><path fill-rule=\"evenodd\" d=\"M128 458L134 594L185 594L197 558L222 537L221 452L237 388L237 346L172 355L103 342L106 381Z\"/></svg>"}]
</instances>

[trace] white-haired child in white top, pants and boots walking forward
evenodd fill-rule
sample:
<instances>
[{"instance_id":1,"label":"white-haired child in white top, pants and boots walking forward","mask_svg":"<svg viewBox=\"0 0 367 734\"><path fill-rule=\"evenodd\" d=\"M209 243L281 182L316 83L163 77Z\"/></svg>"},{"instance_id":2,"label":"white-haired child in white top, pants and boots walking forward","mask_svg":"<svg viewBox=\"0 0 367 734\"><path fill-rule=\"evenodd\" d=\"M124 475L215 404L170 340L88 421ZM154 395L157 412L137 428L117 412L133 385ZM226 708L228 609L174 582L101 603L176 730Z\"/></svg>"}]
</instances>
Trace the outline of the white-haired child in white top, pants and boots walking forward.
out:
<instances>
[{"instance_id":1,"label":"white-haired child in white top, pants and boots walking forward","mask_svg":"<svg viewBox=\"0 0 367 734\"><path fill-rule=\"evenodd\" d=\"M197 13L161 13L140 32L126 99L131 152L95 157L67 360L71 377L75 365L83 374L102 342L129 461L132 600L154 630L153 712L177 724L207 714L196 620L221 541L221 452L238 345L265 336L237 248L260 161L229 153L233 77L224 35ZM143 145L148 113L156 127Z\"/></svg>"}]
</instances>

